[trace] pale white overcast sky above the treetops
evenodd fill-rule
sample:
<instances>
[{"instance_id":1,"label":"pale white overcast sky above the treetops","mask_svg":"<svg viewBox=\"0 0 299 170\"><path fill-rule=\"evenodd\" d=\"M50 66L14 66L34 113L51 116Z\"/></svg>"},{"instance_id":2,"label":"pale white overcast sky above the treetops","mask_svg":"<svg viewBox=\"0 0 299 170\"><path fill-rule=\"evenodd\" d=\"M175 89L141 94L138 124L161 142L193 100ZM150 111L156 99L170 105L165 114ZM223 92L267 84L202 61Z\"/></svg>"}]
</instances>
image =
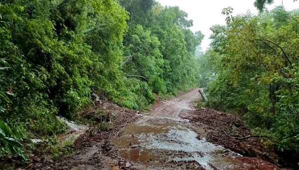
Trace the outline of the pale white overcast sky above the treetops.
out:
<instances>
[{"instance_id":1,"label":"pale white overcast sky above the treetops","mask_svg":"<svg viewBox=\"0 0 299 170\"><path fill-rule=\"evenodd\" d=\"M215 24L224 25L225 17L221 14L223 8L231 6L234 8L233 15L246 13L250 10L251 13L258 13L253 3L255 0L157 0L163 6L179 6L179 8L188 13L188 19L193 20L193 27L190 29L195 32L200 30L204 35L201 43L203 51L210 44L210 27ZM267 5L268 9L274 6L281 5L282 0L274 0L275 3ZM284 0L286 10L299 8L299 1Z\"/></svg>"}]
</instances>

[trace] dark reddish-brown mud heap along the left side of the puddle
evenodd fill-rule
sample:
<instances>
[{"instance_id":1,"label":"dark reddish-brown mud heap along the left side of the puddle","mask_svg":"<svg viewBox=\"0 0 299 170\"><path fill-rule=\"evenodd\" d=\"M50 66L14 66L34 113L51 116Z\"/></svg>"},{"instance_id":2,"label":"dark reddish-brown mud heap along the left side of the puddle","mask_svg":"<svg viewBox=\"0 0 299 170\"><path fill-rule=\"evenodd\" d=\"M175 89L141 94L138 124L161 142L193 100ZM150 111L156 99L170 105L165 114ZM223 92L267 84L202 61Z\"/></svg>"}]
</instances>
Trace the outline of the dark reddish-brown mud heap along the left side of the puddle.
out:
<instances>
[{"instance_id":1,"label":"dark reddish-brown mud heap along the left side of the puddle","mask_svg":"<svg viewBox=\"0 0 299 170\"><path fill-rule=\"evenodd\" d=\"M105 121L109 119L106 130L101 130L103 127L98 126L101 124L100 121L103 121L96 119L96 113L99 112L108 113L105 117ZM58 152L62 155L58 159L53 158L52 153L43 151L48 144L41 144L41 146L36 146L36 151L29 155L27 163L21 163L18 158L8 159L10 163L3 160L0 161L0 169L12 167L12 169L20 170L107 170L107 165L113 166L122 161L113 147L112 139L121 132L123 127L139 119L140 112L111 102L101 102L90 106L81 115L94 123L90 125L86 133L76 139L73 145L60 148ZM98 125L96 121L99 121ZM65 153L68 155L64 155L66 149L68 151ZM125 166L128 164L120 167L126 168ZM132 165L126 169L134 170Z\"/></svg>"}]
</instances>

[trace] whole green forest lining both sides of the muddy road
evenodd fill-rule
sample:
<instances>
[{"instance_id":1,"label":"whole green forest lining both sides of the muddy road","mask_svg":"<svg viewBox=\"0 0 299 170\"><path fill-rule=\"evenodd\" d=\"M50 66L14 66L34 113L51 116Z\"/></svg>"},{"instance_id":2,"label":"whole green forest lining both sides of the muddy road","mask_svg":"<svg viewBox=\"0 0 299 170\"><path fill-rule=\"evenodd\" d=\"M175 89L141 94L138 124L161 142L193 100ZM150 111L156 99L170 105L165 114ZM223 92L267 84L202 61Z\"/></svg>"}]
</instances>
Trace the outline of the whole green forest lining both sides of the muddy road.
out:
<instances>
[{"instance_id":1,"label":"whole green forest lining both sides of the muddy road","mask_svg":"<svg viewBox=\"0 0 299 170\"><path fill-rule=\"evenodd\" d=\"M265 147L299 158L299 9L233 16L211 44L178 6L156 0L0 0L0 157L26 160L30 140L67 130L92 94L147 110L205 87L206 107L233 112ZM296 2L294 2L296 3ZM219 11L221 12L221 11ZM195 58L197 57L197 58Z\"/></svg>"}]
</instances>

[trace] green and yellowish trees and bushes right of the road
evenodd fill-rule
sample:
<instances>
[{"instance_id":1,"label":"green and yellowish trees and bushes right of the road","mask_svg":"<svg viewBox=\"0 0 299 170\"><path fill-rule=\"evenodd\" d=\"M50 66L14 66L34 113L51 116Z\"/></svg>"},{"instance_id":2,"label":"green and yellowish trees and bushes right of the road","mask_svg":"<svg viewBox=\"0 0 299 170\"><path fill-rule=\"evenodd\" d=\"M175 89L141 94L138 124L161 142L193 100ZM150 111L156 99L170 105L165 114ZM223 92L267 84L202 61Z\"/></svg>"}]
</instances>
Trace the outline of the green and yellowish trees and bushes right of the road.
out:
<instances>
[{"instance_id":1,"label":"green and yellowish trees and bushes right of the road","mask_svg":"<svg viewBox=\"0 0 299 170\"><path fill-rule=\"evenodd\" d=\"M213 67L201 68L212 80L208 105L237 111L257 132L270 134L280 153L298 161L299 10L277 6L230 17L211 30L202 58Z\"/></svg>"}]
</instances>

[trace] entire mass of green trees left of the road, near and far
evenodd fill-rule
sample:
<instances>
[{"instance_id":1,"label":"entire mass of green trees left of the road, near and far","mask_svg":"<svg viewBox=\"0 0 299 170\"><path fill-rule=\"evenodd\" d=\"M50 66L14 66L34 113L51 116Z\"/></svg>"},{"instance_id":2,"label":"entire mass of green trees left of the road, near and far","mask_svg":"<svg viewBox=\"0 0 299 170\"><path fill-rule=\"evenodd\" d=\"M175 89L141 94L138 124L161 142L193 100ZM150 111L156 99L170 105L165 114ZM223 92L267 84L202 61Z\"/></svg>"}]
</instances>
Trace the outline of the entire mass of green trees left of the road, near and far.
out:
<instances>
[{"instance_id":1,"label":"entire mass of green trees left of the road, near and far","mask_svg":"<svg viewBox=\"0 0 299 170\"><path fill-rule=\"evenodd\" d=\"M187 14L154 0L121 4L0 0L0 156L23 156L15 124L35 135L61 133L56 115L76 119L92 92L145 109L156 95L197 85L194 51L203 35L188 29Z\"/></svg>"}]
</instances>

